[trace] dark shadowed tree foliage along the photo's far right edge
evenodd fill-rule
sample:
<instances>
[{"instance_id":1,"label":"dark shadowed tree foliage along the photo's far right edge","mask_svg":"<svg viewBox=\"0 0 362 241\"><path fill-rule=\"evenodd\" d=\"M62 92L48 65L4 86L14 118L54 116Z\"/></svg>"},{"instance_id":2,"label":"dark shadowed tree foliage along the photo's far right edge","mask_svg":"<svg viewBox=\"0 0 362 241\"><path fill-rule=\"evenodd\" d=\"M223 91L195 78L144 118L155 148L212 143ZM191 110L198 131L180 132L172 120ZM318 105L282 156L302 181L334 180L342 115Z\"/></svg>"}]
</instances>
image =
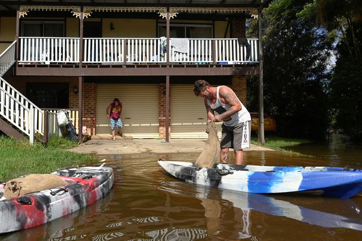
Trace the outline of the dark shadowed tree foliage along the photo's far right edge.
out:
<instances>
[{"instance_id":1,"label":"dark shadowed tree foliage along the photo's far right edge","mask_svg":"<svg viewBox=\"0 0 362 241\"><path fill-rule=\"evenodd\" d=\"M315 16L316 25L336 35L336 65L330 83L334 127L362 137L362 1L314 0L299 16Z\"/></svg>"}]
</instances>

